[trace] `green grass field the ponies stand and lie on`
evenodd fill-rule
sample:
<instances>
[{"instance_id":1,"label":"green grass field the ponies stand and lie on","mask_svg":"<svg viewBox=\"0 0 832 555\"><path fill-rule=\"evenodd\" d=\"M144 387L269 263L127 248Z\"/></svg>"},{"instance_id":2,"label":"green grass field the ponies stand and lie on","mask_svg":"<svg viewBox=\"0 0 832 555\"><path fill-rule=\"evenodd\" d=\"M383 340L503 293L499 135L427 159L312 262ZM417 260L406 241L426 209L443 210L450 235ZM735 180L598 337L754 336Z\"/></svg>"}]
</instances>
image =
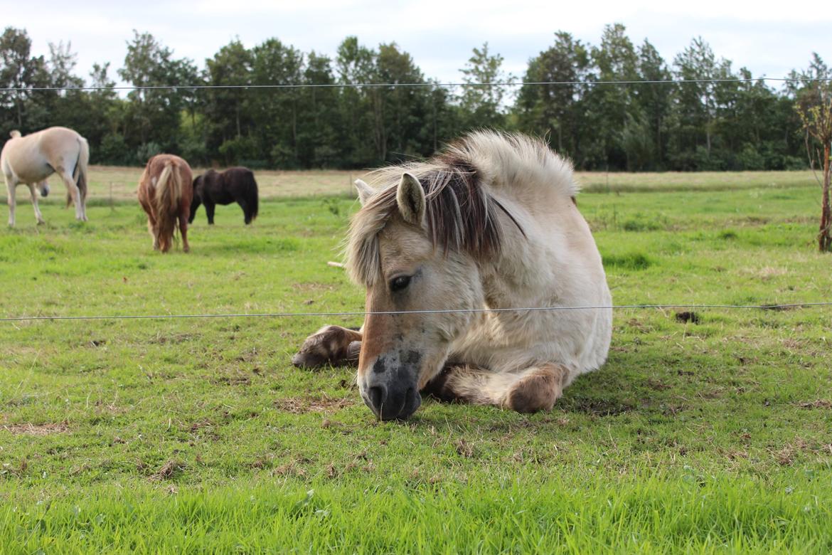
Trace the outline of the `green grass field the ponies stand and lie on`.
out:
<instances>
[{"instance_id":1,"label":"green grass field the ponies stand and lie on","mask_svg":"<svg viewBox=\"0 0 832 555\"><path fill-rule=\"evenodd\" d=\"M47 225L0 230L0 317L363 308L326 265L349 172L258 174L255 225L200 212L159 255L106 171L86 225L53 184ZM832 298L810 173L613 177L578 206L617 304ZM830 553L832 310L696 313L618 310L550 413L404 424L290 364L357 318L0 322L0 553Z\"/></svg>"}]
</instances>

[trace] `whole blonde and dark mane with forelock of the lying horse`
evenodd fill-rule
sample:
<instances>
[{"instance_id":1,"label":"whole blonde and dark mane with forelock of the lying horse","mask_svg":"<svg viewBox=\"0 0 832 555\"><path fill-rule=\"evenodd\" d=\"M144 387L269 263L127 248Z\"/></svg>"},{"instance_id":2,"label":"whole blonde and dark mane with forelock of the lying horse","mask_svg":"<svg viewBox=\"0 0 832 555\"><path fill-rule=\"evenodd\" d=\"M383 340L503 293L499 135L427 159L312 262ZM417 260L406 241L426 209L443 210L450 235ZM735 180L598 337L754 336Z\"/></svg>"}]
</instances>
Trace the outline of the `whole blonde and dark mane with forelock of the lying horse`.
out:
<instances>
[{"instance_id":1,"label":"whole blonde and dark mane with forelock of the lying horse","mask_svg":"<svg viewBox=\"0 0 832 555\"><path fill-rule=\"evenodd\" d=\"M568 170L564 172L564 170ZM476 131L428 161L409 162L373 171L377 191L350 221L346 242L349 275L360 285L373 285L381 275L379 232L397 213L396 190L404 172L423 187L428 237L434 248L464 251L476 260L498 255L503 245L503 212L525 235L518 220L492 190L523 186L557 187L574 197L571 164L543 141L528 136Z\"/></svg>"}]
</instances>

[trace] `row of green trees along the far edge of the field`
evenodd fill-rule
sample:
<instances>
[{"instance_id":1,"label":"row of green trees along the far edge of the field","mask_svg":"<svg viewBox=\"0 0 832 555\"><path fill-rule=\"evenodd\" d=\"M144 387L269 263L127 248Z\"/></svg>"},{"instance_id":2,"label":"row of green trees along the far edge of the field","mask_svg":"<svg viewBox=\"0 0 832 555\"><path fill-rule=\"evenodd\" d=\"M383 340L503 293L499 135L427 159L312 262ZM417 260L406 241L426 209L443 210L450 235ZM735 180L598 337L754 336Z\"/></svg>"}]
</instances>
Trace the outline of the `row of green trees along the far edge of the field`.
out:
<instances>
[{"instance_id":1,"label":"row of green trees along the far edge of the field","mask_svg":"<svg viewBox=\"0 0 832 555\"><path fill-rule=\"evenodd\" d=\"M486 43L460 70L472 85L457 88L426 78L395 43L373 48L356 37L334 57L276 38L252 48L233 41L199 68L134 32L118 77L135 87L177 88L126 96L73 90L115 84L109 63L85 80L75 59L62 43L50 45L49 57L34 57L25 30L3 32L0 87L15 90L0 91L0 136L71 126L87 136L93 161L106 164L143 164L169 151L195 164L347 168L429 156L464 131L491 127L545 136L586 170L779 170L806 166L795 106L823 86L790 82L777 90L735 70L701 38L668 62L650 42L634 45L620 24L607 26L597 45L555 33L522 78L507 75ZM832 77L817 55L792 73ZM738 77L748 81L708 81ZM652 83L671 79L688 82ZM317 87L249 87L263 85ZM43 87L68 88L37 90Z\"/></svg>"}]
</instances>

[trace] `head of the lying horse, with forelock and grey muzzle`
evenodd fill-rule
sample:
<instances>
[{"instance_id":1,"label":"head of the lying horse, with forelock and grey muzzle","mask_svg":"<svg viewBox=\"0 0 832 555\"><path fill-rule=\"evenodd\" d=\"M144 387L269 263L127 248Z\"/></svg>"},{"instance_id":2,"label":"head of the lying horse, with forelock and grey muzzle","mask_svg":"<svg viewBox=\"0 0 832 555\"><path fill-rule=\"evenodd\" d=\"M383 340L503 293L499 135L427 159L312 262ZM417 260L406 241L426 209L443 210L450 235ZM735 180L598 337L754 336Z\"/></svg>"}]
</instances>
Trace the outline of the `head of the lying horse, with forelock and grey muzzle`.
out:
<instances>
[{"instance_id":1,"label":"head of the lying horse, with forelock and grey muzzle","mask_svg":"<svg viewBox=\"0 0 832 555\"><path fill-rule=\"evenodd\" d=\"M399 176L398 185L377 193L356 182L364 207L351 222L347 246L350 275L366 287L370 313L359 389L385 420L418 409L419 390L471 325L475 314L468 310L483 306L478 255L498 247L497 218L473 184L473 171L433 172L422 176L424 184L410 173ZM458 199L463 191L473 195ZM477 228L482 235L475 238ZM428 312L392 314L416 310Z\"/></svg>"}]
</instances>

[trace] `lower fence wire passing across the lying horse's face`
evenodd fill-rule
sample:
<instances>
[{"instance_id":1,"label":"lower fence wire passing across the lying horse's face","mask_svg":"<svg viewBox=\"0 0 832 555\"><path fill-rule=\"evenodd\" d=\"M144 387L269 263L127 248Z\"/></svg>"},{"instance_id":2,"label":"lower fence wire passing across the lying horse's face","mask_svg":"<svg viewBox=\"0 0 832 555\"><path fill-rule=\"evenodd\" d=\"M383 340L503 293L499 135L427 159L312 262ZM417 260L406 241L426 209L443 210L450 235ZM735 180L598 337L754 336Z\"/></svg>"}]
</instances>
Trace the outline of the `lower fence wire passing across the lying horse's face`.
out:
<instances>
[{"instance_id":1,"label":"lower fence wire passing across the lying horse's face","mask_svg":"<svg viewBox=\"0 0 832 555\"><path fill-rule=\"evenodd\" d=\"M503 309L437 309L437 310L380 310L380 311L339 311L339 312L260 312L253 314L181 314L181 315L79 315L79 316L8 316L0 322L25 322L40 320L176 320L196 318L292 318L292 317L339 317L339 316L374 316L374 315L432 315L461 313L503 313L503 312L539 312L557 310L624 310L624 309L735 309L735 310L790 310L832 306L830 302L790 303L785 305L598 305L598 306L527 306Z\"/></svg>"}]
</instances>

